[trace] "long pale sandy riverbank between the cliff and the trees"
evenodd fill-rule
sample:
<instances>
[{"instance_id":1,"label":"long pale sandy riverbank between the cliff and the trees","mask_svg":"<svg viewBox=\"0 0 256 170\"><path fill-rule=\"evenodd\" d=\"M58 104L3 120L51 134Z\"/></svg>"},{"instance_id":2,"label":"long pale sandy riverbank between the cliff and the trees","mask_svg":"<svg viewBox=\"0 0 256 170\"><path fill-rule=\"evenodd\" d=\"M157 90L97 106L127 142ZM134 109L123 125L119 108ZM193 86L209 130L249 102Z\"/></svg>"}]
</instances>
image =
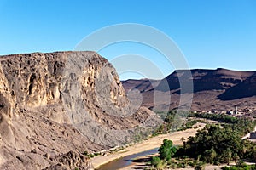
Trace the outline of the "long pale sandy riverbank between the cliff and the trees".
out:
<instances>
[{"instance_id":1,"label":"long pale sandy riverbank between the cliff and the trees","mask_svg":"<svg viewBox=\"0 0 256 170\"><path fill-rule=\"evenodd\" d=\"M148 140L144 140L142 143L134 144L131 147L125 148L125 150L120 150L111 155L96 156L92 158L90 161L92 162L92 165L95 168L97 168L102 166L103 164L108 163L109 161L113 161L124 156L131 156L133 154L137 154L146 150L152 150L154 148L160 147L160 144L162 144L162 141L164 139L171 139L173 144L175 145L183 144L183 142L181 141L182 137L187 139L189 138L189 136L195 136L196 131L204 127L205 124L197 123L195 126L198 128L192 128L185 131L175 132L172 134L161 134Z\"/></svg>"}]
</instances>

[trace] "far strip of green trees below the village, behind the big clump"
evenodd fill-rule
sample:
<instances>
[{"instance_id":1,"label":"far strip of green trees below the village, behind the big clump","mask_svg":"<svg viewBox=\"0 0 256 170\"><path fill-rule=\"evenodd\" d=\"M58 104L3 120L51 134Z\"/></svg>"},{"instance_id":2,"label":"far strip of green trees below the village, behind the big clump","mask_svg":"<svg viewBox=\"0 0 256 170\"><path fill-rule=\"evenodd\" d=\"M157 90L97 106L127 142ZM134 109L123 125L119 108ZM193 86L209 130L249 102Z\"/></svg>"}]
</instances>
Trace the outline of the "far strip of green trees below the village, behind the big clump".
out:
<instances>
[{"instance_id":1,"label":"far strip of green trees below the village, behind the big clump","mask_svg":"<svg viewBox=\"0 0 256 170\"><path fill-rule=\"evenodd\" d=\"M209 113L193 113L187 111L176 110L168 112L157 112L157 114L165 121L160 127L154 132L153 136L160 133L168 133L171 131L182 131L192 128L196 122L204 122L199 119L207 119L216 121L222 124L222 127L230 127L235 130L240 136L245 135L253 131L256 126L256 122L248 118L237 118L226 114L209 114ZM196 120L185 119L187 117L197 118Z\"/></svg>"}]
</instances>

